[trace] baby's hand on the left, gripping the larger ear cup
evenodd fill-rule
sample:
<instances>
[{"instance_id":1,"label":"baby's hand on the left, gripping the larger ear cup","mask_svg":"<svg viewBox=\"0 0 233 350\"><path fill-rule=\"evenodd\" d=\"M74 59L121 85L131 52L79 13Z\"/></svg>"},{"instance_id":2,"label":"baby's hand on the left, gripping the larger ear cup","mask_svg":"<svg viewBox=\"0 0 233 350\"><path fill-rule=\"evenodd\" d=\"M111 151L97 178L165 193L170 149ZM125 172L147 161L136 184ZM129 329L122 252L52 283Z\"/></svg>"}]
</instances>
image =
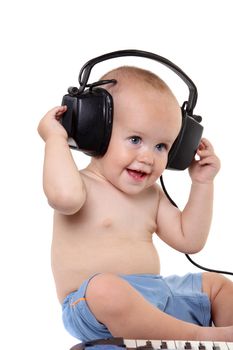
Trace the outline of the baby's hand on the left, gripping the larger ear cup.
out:
<instances>
[{"instance_id":1,"label":"baby's hand on the left, gripping the larger ear cup","mask_svg":"<svg viewBox=\"0 0 233 350\"><path fill-rule=\"evenodd\" d=\"M46 142L50 136L59 135L67 140L67 132L65 128L59 122L62 114L67 110L66 106L59 106L51 109L41 119L38 125L38 133L42 139Z\"/></svg>"}]
</instances>

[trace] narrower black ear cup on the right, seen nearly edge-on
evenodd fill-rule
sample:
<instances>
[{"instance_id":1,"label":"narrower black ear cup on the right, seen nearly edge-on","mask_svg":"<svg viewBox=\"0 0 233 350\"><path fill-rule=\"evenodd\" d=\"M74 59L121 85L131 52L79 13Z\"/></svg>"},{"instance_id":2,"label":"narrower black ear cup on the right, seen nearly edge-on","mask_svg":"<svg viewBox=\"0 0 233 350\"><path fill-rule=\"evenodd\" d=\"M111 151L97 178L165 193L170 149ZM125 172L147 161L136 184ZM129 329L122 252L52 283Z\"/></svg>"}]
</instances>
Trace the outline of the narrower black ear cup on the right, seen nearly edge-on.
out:
<instances>
[{"instance_id":1,"label":"narrower black ear cup on the right, seen nearly edge-on","mask_svg":"<svg viewBox=\"0 0 233 350\"><path fill-rule=\"evenodd\" d=\"M203 126L182 111L182 127L168 155L167 169L184 170L191 164L199 146Z\"/></svg>"}]
</instances>

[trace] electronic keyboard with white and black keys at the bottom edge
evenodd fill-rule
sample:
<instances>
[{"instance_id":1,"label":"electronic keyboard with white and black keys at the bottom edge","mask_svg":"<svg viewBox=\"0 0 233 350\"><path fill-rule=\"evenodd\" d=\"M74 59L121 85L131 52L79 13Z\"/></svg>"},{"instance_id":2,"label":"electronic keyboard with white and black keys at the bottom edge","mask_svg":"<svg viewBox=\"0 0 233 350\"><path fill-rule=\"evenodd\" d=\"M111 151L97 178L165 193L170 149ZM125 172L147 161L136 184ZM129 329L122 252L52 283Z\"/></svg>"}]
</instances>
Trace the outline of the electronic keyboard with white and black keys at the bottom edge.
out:
<instances>
[{"instance_id":1,"label":"electronic keyboard with white and black keys at the bottom edge","mask_svg":"<svg viewBox=\"0 0 233 350\"><path fill-rule=\"evenodd\" d=\"M107 338L74 345L70 350L233 350L233 342L185 340L134 340Z\"/></svg>"}]
</instances>

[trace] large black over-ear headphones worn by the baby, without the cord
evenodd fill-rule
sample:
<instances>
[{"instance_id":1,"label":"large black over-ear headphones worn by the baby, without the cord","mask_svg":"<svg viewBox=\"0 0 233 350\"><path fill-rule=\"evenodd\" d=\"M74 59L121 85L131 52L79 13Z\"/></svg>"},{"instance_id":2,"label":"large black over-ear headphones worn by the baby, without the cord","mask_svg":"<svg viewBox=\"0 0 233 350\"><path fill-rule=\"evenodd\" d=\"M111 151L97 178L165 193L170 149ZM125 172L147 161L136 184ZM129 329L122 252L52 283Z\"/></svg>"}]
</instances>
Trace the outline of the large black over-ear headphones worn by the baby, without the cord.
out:
<instances>
[{"instance_id":1,"label":"large black over-ear headphones worn by the baby, without the cord","mask_svg":"<svg viewBox=\"0 0 233 350\"><path fill-rule=\"evenodd\" d=\"M88 84L92 68L100 62L123 56L137 56L157 61L175 72L188 86L189 96L181 107L182 126L168 155L167 169L184 170L191 164L199 146L203 126L202 118L193 115L197 102L197 88L192 80L174 63L151 52L141 50L120 50L91 59L81 68L79 88L70 87L63 96L62 105L67 111L61 123L67 131L69 146L84 153L102 157L108 148L113 124L113 98L104 88L104 84L116 83L116 80L100 80Z\"/></svg>"}]
</instances>

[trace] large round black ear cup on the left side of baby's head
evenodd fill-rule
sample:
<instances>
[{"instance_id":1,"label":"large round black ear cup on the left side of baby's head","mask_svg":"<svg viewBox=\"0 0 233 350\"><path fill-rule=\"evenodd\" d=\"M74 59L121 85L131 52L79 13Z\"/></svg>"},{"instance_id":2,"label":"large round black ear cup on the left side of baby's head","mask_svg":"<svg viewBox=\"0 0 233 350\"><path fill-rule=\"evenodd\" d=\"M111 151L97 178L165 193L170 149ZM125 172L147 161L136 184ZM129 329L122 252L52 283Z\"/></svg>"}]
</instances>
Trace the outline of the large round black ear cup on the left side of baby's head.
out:
<instances>
[{"instance_id":1,"label":"large round black ear cup on the left side of baby's head","mask_svg":"<svg viewBox=\"0 0 233 350\"><path fill-rule=\"evenodd\" d=\"M68 94L63 97L62 105L68 107L61 123L75 141L71 147L90 156L104 155L113 121L113 100L108 91L93 88L77 96Z\"/></svg>"}]
</instances>

